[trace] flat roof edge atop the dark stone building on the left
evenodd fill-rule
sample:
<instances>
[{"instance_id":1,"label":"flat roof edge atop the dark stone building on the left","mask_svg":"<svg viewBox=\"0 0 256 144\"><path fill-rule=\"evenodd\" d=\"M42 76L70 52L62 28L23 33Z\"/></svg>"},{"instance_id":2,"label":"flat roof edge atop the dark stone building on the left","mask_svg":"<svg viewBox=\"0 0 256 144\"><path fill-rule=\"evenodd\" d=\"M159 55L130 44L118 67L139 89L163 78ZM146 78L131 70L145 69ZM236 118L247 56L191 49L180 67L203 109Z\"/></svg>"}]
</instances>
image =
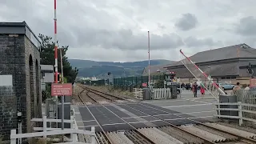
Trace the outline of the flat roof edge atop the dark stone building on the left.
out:
<instances>
[{"instance_id":1,"label":"flat roof edge atop the dark stone building on the left","mask_svg":"<svg viewBox=\"0 0 256 144\"><path fill-rule=\"evenodd\" d=\"M23 22L0 22L0 34L25 34L38 49L41 42L30 27Z\"/></svg>"}]
</instances>

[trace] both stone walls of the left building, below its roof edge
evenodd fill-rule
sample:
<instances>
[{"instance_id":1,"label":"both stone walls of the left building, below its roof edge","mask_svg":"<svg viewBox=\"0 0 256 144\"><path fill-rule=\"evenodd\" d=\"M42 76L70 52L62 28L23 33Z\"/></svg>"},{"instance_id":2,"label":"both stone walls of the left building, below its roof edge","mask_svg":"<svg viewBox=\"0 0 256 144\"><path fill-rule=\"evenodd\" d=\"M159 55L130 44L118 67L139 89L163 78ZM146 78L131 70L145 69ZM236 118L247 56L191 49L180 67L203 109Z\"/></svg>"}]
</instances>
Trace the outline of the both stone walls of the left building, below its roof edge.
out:
<instances>
[{"instance_id":1,"label":"both stone walls of the left building, below its roof edge","mask_svg":"<svg viewBox=\"0 0 256 144\"><path fill-rule=\"evenodd\" d=\"M6 90L5 86L0 88L0 137L4 136L4 140L10 139L11 129L18 128L18 111L22 112L22 133L31 131L31 95L34 96L34 117L42 117L41 85L36 82L36 79L40 79L40 68L36 66L40 66L39 51L24 34L19 34L17 38L0 34L0 75L13 76L13 86L9 86L9 90ZM30 83L33 86L30 86Z\"/></svg>"}]
</instances>

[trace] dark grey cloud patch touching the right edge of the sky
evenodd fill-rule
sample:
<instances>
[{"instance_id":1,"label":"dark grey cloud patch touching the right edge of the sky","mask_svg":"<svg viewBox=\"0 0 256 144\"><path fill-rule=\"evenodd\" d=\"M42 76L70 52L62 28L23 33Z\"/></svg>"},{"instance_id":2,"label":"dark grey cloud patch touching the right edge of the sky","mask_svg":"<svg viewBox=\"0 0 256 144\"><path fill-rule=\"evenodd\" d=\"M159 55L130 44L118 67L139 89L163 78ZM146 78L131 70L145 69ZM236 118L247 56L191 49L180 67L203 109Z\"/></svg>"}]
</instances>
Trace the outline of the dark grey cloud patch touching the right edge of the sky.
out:
<instances>
[{"instance_id":1,"label":"dark grey cloud patch touching the right edge of the sky","mask_svg":"<svg viewBox=\"0 0 256 144\"><path fill-rule=\"evenodd\" d=\"M235 26L235 32L243 36L256 35L256 18L250 16L241 18L239 23Z\"/></svg>"}]
</instances>

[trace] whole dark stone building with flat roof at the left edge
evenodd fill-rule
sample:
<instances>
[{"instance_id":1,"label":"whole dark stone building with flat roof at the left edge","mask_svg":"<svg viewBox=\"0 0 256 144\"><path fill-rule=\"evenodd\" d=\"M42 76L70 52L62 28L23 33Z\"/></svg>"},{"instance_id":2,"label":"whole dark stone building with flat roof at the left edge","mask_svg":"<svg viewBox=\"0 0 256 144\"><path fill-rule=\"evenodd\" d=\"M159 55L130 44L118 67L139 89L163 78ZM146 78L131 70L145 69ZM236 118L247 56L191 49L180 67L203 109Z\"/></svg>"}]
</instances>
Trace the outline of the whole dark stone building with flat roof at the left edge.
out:
<instances>
[{"instance_id":1,"label":"whole dark stone building with flat roof at the left edge","mask_svg":"<svg viewBox=\"0 0 256 144\"><path fill-rule=\"evenodd\" d=\"M18 129L30 132L31 118L42 117L40 42L26 22L0 22L0 137ZM18 131L18 130L17 130Z\"/></svg>"}]
</instances>

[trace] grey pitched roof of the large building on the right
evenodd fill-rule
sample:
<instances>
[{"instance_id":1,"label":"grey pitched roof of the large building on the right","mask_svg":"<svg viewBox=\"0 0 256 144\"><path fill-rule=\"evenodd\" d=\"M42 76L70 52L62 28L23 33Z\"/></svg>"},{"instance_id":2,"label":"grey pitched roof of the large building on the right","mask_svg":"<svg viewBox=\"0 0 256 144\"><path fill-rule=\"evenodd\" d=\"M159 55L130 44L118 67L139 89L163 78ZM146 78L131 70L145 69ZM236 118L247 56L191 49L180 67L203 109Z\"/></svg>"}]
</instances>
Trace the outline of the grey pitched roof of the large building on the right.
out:
<instances>
[{"instance_id":1,"label":"grey pitched roof of the large building on the right","mask_svg":"<svg viewBox=\"0 0 256 144\"><path fill-rule=\"evenodd\" d=\"M234 46L226 46L214 50L198 52L190 57L195 63L215 62L232 58L256 58L256 49L242 43ZM168 67L182 65L182 61L178 61L168 65Z\"/></svg>"}]
</instances>

